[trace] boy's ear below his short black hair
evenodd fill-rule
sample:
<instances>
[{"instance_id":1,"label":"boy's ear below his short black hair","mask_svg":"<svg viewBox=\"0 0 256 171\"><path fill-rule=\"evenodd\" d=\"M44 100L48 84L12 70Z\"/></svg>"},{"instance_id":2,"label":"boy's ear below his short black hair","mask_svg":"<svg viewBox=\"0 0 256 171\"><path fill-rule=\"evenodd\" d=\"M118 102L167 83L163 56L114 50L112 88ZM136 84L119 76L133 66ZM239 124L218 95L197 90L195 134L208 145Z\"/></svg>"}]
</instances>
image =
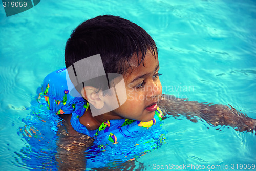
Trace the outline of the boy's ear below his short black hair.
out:
<instances>
[{"instance_id":1,"label":"boy's ear below his short black hair","mask_svg":"<svg viewBox=\"0 0 256 171\"><path fill-rule=\"evenodd\" d=\"M97 89L92 86L85 86L81 91L82 97L85 98L96 109L102 109L104 106L102 92L97 92Z\"/></svg>"}]
</instances>

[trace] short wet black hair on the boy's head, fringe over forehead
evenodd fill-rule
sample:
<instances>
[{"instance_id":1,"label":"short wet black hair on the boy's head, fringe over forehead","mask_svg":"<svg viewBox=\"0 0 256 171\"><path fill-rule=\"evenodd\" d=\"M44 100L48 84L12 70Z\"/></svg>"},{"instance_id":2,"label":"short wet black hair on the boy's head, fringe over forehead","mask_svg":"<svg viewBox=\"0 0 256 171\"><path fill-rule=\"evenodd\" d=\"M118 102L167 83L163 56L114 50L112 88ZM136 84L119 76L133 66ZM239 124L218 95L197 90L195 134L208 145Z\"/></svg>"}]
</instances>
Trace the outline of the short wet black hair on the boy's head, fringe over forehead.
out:
<instances>
[{"instance_id":1,"label":"short wet black hair on the boy's head, fringe over forehead","mask_svg":"<svg viewBox=\"0 0 256 171\"><path fill-rule=\"evenodd\" d=\"M124 74L131 67L131 58L136 55L140 65L148 50L156 57L155 41L143 28L121 17L103 15L86 20L73 30L66 43L65 63L68 68L100 54L105 73Z\"/></svg>"}]
</instances>

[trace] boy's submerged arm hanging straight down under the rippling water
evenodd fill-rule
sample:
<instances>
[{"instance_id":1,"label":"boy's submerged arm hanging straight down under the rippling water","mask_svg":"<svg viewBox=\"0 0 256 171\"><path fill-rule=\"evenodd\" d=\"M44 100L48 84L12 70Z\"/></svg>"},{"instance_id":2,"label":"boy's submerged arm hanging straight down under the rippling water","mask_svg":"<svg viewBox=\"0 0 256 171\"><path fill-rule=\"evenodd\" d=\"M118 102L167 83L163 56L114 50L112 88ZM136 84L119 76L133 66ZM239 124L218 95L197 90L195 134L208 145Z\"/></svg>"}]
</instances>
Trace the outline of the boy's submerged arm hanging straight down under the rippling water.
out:
<instances>
[{"instance_id":1,"label":"boy's submerged arm hanging straight down under the rippling water","mask_svg":"<svg viewBox=\"0 0 256 171\"><path fill-rule=\"evenodd\" d=\"M93 145L94 139L73 129L70 124L71 114L61 117L65 122L58 125L59 140L55 155L58 170L84 170L86 169L86 149Z\"/></svg>"}]
</instances>

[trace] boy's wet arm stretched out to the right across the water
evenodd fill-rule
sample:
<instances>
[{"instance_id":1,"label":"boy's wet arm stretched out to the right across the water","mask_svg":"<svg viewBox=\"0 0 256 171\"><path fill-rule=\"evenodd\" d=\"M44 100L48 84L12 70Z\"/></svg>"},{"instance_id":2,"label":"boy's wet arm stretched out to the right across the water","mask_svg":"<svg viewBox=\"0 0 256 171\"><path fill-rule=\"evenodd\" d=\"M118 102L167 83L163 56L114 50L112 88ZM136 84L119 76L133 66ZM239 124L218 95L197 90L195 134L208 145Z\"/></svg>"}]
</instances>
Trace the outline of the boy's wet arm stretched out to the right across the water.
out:
<instances>
[{"instance_id":1,"label":"boy's wet arm stretched out to the right across the water","mask_svg":"<svg viewBox=\"0 0 256 171\"><path fill-rule=\"evenodd\" d=\"M236 127L239 131L256 130L256 119L237 111L231 105L229 108L220 104L203 104L197 101L185 101L186 99L176 98L173 95L162 95L159 107L165 114L180 116L185 115L187 119L197 122L195 116L204 119L208 124L214 126L227 125Z\"/></svg>"}]
</instances>

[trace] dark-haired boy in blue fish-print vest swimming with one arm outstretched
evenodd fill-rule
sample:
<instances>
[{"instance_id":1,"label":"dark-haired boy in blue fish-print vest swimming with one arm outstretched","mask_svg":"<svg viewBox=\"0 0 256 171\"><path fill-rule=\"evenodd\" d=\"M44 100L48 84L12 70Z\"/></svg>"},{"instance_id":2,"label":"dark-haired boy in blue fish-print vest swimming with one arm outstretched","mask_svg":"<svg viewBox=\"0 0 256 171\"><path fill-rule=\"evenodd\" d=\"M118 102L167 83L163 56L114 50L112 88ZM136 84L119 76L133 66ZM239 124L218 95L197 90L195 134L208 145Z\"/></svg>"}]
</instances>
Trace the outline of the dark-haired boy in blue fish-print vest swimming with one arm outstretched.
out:
<instances>
[{"instance_id":1,"label":"dark-haired boy in blue fish-print vest swimming with one arm outstretched","mask_svg":"<svg viewBox=\"0 0 256 171\"><path fill-rule=\"evenodd\" d=\"M198 116L215 126L255 130L255 119L233 108L162 95L155 42L145 30L129 20L104 15L80 24L67 41L65 63L67 70L46 77L40 96L45 97L50 109L65 119L69 136L79 132L96 137L102 144L117 144L125 138L131 141L132 133L142 127L147 130L162 120L158 106L165 114L182 114L188 119ZM75 89L69 87L69 79L63 82L67 71L67 79L71 79ZM116 75L110 77L109 73ZM124 84L118 87L122 81ZM67 86L61 89L64 84L68 84L68 90ZM113 126L116 127L111 130ZM124 132L124 127L134 130Z\"/></svg>"}]
</instances>

